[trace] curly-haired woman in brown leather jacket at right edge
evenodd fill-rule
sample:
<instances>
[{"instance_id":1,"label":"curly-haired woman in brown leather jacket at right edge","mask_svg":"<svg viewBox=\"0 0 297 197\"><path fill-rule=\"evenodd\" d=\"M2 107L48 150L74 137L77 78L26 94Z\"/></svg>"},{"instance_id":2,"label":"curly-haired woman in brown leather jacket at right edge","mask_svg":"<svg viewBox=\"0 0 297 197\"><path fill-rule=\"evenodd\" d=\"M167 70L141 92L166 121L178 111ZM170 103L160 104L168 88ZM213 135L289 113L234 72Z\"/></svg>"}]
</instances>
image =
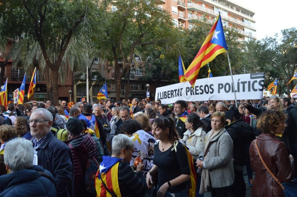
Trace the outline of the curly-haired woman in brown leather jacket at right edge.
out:
<instances>
[{"instance_id":1,"label":"curly-haired woman in brown leather jacket at right edge","mask_svg":"<svg viewBox=\"0 0 297 197\"><path fill-rule=\"evenodd\" d=\"M279 110L268 110L261 114L257 128L262 133L257 136L259 152L266 166L274 176L282 182L290 182L295 173L294 158L288 154L284 142L275 137L283 134L287 124L286 115ZM262 163L254 140L249 148L252 170L255 171L255 180L252 188L252 196L271 197L285 196L282 188L266 170Z\"/></svg>"}]
</instances>

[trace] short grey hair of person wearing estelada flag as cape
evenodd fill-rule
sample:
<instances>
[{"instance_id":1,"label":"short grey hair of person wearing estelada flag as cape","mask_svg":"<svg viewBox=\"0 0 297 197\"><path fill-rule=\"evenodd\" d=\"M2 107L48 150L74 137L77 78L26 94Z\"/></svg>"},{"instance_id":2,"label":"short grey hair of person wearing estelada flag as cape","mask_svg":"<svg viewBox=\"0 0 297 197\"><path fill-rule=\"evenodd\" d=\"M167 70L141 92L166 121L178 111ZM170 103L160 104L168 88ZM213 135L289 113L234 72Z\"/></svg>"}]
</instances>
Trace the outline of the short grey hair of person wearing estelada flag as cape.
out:
<instances>
[{"instance_id":1,"label":"short grey hair of person wearing estelada flag as cape","mask_svg":"<svg viewBox=\"0 0 297 197\"><path fill-rule=\"evenodd\" d=\"M120 155L123 148L134 149L134 142L130 137L119 134L113 137L111 147L114 155Z\"/></svg>"}]
</instances>

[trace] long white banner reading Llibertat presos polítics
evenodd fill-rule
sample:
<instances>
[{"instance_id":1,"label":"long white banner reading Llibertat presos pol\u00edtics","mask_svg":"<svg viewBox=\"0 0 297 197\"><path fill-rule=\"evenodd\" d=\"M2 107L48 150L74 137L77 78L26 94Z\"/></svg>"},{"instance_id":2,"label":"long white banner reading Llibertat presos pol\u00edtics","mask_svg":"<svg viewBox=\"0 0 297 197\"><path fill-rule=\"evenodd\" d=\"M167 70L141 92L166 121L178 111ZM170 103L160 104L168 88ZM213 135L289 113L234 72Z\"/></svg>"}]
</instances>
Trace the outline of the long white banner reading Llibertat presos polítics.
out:
<instances>
[{"instance_id":1,"label":"long white banner reading Llibertat presos pol\u00edtics","mask_svg":"<svg viewBox=\"0 0 297 197\"><path fill-rule=\"evenodd\" d=\"M264 75L264 72L233 75L237 100L262 99ZM177 100L234 100L233 92L231 76L210 77L196 80L194 88L189 82L157 88L155 100L161 100L162 104Z\"/></svg>"}]
</instances>

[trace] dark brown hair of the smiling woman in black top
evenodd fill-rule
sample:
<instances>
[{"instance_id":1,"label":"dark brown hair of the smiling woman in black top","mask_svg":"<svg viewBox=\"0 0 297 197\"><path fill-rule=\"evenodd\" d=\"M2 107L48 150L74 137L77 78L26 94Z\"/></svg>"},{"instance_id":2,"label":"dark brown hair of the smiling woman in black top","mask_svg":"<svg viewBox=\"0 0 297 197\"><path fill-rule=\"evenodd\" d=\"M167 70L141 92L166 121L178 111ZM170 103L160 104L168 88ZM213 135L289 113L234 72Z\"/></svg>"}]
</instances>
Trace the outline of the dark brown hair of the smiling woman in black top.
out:
<instances>
[{"instance_id":1,"label":"dark brown hair of the smiling woman in black top","mask_svg":"<svg viewBox=\"0 0 297 197\"><path fill-rule=\"evenodd\" d=\"M176 140L180 140L178 132L176 131L176 128L175 128L174 120L172 118L161 116L153 120L152 125L154 124L156 125L157 128L161 128L163 131L166 130L166 128L169 128L168 139L171 143L174 143Z\"/></svg>"}]
</instances>

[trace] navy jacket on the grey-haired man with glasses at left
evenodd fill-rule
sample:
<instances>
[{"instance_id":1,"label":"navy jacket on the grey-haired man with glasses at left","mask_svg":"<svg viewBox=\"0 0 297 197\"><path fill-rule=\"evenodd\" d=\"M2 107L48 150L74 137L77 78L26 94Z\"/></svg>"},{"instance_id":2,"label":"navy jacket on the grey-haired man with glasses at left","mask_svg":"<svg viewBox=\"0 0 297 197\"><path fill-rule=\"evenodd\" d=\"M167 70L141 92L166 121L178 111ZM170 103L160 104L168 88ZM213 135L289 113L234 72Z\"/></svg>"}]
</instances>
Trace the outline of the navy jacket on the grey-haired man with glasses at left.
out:
<instances>
[{"instance_id":1,"label":"navy jacket on the grey-haired man with glasses at left","mask_svg":"<svg viewBox=\"0 0 297 197\"><path fill-rule=\"evenodd\" d=\"M38 165L50 171L57 185L58 196L73 196L73 158L70 148L52 132L38 147Z\"/></svg>"}]
</instances>

